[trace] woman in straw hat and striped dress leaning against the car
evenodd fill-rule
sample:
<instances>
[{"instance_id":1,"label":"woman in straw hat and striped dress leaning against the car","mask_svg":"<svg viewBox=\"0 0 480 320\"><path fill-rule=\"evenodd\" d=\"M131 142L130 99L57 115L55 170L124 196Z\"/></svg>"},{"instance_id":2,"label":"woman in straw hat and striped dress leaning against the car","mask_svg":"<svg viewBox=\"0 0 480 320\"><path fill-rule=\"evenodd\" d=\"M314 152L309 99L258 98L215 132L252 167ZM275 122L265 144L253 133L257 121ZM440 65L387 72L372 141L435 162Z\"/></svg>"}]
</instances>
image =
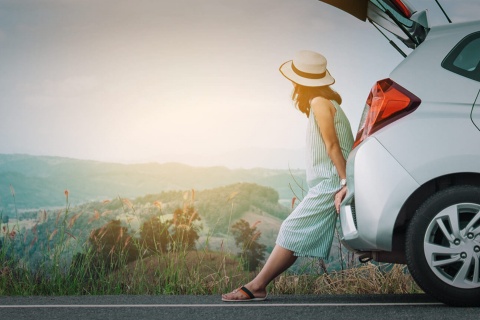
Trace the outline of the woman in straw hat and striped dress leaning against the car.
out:
<instances>
[{"instance_id":1,"label":"woman in straw hat and striped dress leaning against the car","mask_svg":"<svg viewBox=\"0 0 480 320\"><path fill-rule=\"evenodd\" d=\"M280 72L293 83L292 100L308 118L305 198L282 223L276 246L248 284L222 295L223 301L259 301L266 287L298 257L328 258L341 199L346 193L346 158L352 149L350 123L340 108L335 79L319 53L300 51Z\"/></svg>"}]
</instances>

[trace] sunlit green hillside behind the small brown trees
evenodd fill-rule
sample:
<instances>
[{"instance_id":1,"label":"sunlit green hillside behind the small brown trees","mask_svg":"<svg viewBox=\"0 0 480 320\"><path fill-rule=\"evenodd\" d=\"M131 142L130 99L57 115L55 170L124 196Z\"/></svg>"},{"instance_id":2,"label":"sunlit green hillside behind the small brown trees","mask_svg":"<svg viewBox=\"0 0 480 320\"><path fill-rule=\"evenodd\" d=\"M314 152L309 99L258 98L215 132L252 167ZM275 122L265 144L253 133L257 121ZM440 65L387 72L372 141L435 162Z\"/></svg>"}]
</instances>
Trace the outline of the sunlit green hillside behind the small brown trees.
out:
<instances>
[{"instance_id":1,"label":"sunlit green hillside behind the small brown trees","mask_svg":"<svg viewBox=\"0 0 480 320\"><path fill-rule=\"evenodd\" d=\"M272 188L236 183L198 192L164 191L132 200L117 198L63 209L20 212L18 220L10 218L3 226L18 233L14 235L15 256L35 269L42 263L40 253L45 248L65 249L62 259L70 261L76 252L85 250L94 230L112 220L120 220L126 232L139 239L141 227L149 218L172 220L176 210L186 207L194 207L200 217L195 222L200 236L196 248L229 252L238 250L230 231L236 221L260 221L259 241L271 250L281 222L291 211L278 203L278 193Z\"/></svg>"}]
</instances>

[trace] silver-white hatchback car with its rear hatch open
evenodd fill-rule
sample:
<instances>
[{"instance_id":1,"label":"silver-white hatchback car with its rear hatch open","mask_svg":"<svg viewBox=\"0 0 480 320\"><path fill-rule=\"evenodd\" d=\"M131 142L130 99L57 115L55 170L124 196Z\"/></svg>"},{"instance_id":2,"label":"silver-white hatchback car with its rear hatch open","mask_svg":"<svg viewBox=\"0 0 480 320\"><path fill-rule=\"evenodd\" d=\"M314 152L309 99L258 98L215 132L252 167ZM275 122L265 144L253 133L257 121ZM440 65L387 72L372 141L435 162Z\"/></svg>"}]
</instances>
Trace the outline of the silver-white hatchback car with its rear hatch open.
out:
<instances>
[{"instance_id":1,"label":"silver-white hatchback car with its rear hatch open","mask_svg":"<svg viewBox=\"0 0 480 320\"><path fill-rule=\"evenodd\" d=\"M323 0L321 0L323 1ZM325 0L413 51L372 88L347 162L342 241L480 306L480 21L429 27L404 0Z\"/></svg>"}]
</instances>

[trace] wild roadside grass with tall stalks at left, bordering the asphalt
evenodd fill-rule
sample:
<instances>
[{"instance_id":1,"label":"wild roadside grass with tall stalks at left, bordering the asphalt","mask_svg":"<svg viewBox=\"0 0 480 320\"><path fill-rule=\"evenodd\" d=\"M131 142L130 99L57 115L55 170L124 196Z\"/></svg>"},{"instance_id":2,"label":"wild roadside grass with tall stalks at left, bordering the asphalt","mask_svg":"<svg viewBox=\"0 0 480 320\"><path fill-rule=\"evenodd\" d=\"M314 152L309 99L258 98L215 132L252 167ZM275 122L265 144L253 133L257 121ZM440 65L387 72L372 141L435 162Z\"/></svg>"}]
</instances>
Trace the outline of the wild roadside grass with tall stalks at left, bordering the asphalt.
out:
<instances>
[{"instance_id":1,"label":"wild roadside grass with tall stalks at left, bordering the asphalt","mask_svg":"<svg viewBox=\"0 0 480 320\"><path fill-rule=\"evenodd\" d=\"M81 259L71 262L72 250L88 248L77 243L67 245L75 236L70 233L78 218L69 212L68 193L66 208L57 215L57 228L50 230L50 239L62 239L54 247L43 247L35 252L41 267L29 268L29 261L15 254L23 236L18 223L14 227L2 224L0 219L0 295L115 295L115 294L221 294L247 283L255 272L242 268L239 258L232 252L198 250L148 253L139 242L135 259L124 252L113 252L116 265L97 263L92 248L83 251ZM73 216L70 216L73 215ZM0 214L1 216L1 214ZM83 230L85 232L86 230ZM118 238L120 239L120 237ZM25 240L24 240L25 241ZM208 243L208 240L206 241ZM126 246L126 245L125 245ZM28 248L28 243L25 245ZM333 252L334 250L332 250ZM352 263L353 257L340 271L329 271L323 261L311 260L318 268L306 268L308 273L286 272L273 281L270 294L405 294L422 292L405 266ZM70 260L67 258L70 257ZM132 261L133 260L133 261ZM315 271L317 270L317 271Z\"/></svg>"}]
</instances>

